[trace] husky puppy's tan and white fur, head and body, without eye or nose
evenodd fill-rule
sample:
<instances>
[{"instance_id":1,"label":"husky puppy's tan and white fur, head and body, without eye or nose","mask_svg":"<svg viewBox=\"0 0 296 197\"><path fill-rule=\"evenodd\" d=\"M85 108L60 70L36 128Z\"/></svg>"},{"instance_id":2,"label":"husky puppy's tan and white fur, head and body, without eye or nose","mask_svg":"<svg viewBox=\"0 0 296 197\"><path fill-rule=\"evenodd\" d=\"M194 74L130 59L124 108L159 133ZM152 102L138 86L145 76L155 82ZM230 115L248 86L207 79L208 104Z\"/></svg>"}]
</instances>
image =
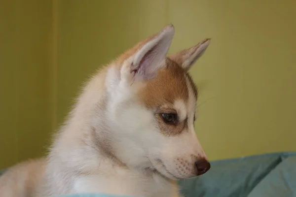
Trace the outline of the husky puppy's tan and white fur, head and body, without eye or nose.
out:
<instances>
[{"instance_id":1,"label":"husky puppy's tan and white fur, head and body, without eye or nose","mask_svg":"<svg viewBox=\"0 0 296 197\"><path fill-rule=\"evenodd\" d=\"M173 33L165 27L95 74L48 156L5 172L0 197L178 197L175 180L196 176L195 162L207 160L193 128L197 88L187 70L209 40L162 61ZM167 124L162 113L178 114L178 121Z\"/></svg>"}]
</instances>

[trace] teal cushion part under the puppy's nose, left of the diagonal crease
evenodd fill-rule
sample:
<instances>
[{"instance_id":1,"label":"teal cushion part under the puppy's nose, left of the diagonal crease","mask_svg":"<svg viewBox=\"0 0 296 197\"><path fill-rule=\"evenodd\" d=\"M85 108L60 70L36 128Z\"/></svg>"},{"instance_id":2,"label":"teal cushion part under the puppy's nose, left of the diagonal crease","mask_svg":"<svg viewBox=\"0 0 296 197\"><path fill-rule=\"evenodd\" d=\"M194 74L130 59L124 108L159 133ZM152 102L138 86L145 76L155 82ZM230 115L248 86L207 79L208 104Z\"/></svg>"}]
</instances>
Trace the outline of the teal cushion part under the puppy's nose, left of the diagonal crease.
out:
<instances>
[{"instance_id":1,"label":"teal cushion part under the puppy's nose, left of the diagonal crease","mask_svg":"<svg viewBox=\"0 0 296 197\"><path fill-rule=\"evenodd\" d=\"M179 182L185 197L246 197L281 162L267 154L211 163L204 175Z\"/></svg>"}]
</instances>

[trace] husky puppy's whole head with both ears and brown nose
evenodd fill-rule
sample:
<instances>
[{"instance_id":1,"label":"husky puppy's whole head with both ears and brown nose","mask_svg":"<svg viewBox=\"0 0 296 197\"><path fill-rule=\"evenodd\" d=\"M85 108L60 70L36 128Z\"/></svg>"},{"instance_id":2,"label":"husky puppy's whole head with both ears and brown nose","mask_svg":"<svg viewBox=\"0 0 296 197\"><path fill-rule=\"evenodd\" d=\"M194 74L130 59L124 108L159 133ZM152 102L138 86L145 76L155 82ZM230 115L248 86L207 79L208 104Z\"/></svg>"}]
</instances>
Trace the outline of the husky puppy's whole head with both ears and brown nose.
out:
<instances>
[{"instance_id":1,"label":"husky puppy's whole head with both ears and brown nose","mask_svg":"<svg viewBox=\"0 0 296 197\"><path fill-rule=\"evenodd\" d=\"M194 131L197 89L188 74L210 40L167 56L173 36L169 25L111 64L105 116L122 163L183 179L210 168Z\"/></svg>"}]
</instances>

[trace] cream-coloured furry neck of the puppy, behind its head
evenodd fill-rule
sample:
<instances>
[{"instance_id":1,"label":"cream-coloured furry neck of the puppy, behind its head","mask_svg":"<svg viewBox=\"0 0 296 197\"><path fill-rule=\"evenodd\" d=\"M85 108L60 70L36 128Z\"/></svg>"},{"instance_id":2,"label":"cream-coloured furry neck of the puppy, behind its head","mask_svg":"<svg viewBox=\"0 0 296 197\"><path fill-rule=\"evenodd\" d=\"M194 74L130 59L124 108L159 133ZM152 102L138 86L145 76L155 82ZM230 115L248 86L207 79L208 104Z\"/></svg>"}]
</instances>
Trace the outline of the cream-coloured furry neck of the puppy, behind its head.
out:
<instances>
[{"instance_id":1,"label":"cream-coloured furry neck of the puppy, behind its head","mask_svg":"<svg viewBox=\"0 0 296 197\"><path fill-rule=\"evenodd\" d=\"M106 74L111 66L103 68L83 88L64 126L54 137L49 158L58 158L74 170L99 170L106 163L127 168L114 153L106 120Z\"/></svg>"}]
</instances>

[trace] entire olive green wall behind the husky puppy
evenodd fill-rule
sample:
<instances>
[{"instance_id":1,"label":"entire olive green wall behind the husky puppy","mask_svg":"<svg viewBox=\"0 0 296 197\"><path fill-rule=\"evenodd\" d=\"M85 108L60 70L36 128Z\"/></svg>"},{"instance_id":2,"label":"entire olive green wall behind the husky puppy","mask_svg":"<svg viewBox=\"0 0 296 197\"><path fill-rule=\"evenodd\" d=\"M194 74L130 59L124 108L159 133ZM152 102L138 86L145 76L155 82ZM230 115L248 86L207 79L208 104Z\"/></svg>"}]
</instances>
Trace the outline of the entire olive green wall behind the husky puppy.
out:
<instances>
[{"instance_id":1,"label":"entire olive green wall behind the husky puppy","mask_svg":"<svg viewBox=\"0 0 296 197\"><path fill-rule=\"evenodd\" d=\"M196 131L209 158L296 151L295 6L295 0L5 2L0 167L41 155L81 83L169 23L176 29L170 52L212 38L190 71L200 90Z\"/></svg>"}]
</instances>

